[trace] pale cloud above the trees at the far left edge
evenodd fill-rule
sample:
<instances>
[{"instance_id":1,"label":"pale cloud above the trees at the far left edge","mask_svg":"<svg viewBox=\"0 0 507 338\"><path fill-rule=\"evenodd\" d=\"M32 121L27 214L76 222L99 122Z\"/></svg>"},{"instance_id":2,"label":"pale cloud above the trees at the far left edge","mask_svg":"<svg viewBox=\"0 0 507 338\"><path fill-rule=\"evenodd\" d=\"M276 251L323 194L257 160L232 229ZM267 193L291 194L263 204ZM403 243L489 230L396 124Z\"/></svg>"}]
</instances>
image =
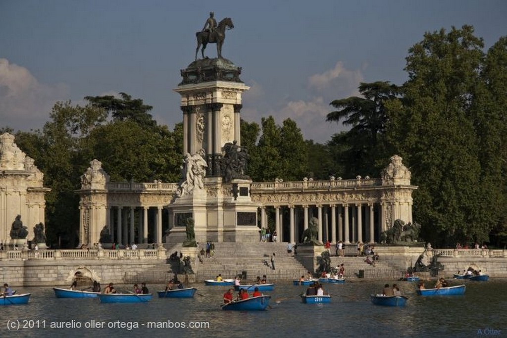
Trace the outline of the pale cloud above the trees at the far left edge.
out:
<instances>
[{"instance_id":1,"label":"pale cloud above the trees at the far left edge","mask_svg":"<svg viewBox=\"0 0 507 338\"><path fill-rule=\"evenodd\" d=\"M0 58L0 127L42 128L58 100L67 100L66 85L41 84L25 67Z\"/></svg>"}]
</instances>

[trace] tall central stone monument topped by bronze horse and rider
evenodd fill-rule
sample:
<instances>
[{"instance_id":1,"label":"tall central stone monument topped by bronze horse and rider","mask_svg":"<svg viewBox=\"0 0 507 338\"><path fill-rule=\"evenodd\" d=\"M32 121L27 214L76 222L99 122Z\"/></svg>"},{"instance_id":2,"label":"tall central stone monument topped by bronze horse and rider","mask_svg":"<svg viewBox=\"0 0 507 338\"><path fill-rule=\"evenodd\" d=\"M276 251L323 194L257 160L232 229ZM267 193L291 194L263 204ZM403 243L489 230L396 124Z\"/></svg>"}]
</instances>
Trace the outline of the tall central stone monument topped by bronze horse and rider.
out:
<instances>
[{"instance_id":1,"label":"tall central stone monument topped by bronze horse and rider","mask_svg":"<svg viewBox=\"0 0 507 338\"><path fill-rule=\"evenodd\" d=\"M258 241L258 204L251 201L252 181L244 175L248 154L240 135L241 94L249 87L239 78L241 67L222 57L220 35L226 26L234 27L231 19L210 33L218 39L218 57L203 54L197 60L196 51L196 61L181 70L182 81L174 89L183 110L184 160L182 180L168 206L168 242L186 239L189 218L198 242ZM203 32L197 37L199 42Z\"/></svg>"}]
</instances>

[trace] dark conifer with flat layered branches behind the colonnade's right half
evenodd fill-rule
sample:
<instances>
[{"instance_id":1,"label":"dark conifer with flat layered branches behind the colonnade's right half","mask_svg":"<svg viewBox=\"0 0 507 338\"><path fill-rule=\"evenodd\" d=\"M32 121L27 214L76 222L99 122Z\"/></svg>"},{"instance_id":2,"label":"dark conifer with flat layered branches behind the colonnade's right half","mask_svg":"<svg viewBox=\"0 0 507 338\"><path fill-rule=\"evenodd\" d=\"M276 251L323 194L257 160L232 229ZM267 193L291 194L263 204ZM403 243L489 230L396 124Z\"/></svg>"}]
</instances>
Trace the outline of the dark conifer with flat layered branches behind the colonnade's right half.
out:
<instances>
[{"instance_id":1,"label":"dark conifer with flat layered branches behind the colonnade's right half","mask_svg":"<svg viewBox=\"0 0 507 338\"><path fill-rule=\"evenodd\" d=\"M351 129L333 136L328 146L342 153L337 158L345 168L346 177L378 175L390 155L384 141L387 114L385 104L396 99L399 88L389 82L361 83L364 97L352 96L331 102L338 110L328 114L326 121L343 121Z\"/></svg>"}]
</instances>

